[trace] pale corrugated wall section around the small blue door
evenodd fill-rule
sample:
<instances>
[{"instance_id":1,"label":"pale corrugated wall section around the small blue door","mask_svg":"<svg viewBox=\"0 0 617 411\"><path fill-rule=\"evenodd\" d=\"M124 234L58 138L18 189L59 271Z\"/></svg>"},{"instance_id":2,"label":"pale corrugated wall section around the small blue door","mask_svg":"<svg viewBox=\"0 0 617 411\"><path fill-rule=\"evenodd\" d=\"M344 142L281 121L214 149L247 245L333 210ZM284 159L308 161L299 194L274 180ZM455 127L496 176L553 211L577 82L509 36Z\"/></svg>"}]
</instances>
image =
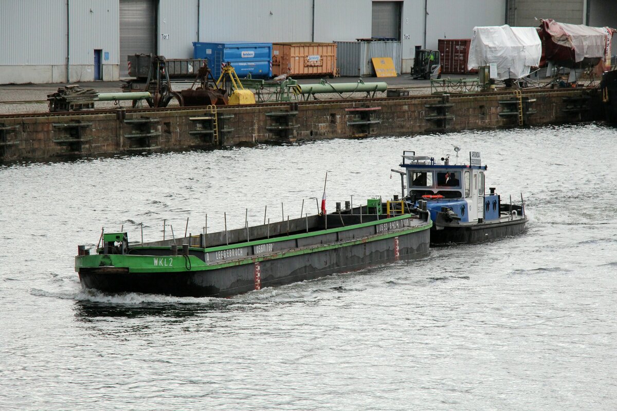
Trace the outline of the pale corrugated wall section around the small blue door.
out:
<instances>
[{"instance_id":1,"label":"pale corrugated wall section around the small blue door","mask_svg":"<svg viewBox=\"0 0 617 411\"><path fill-rule=\"evenodd\" d=\"M103 64L118 64L118 0L73 0L70 4L70 64L91 65L94 49ZM109 60L104 60L105 52Z\"/></svg>"}]
</instances>

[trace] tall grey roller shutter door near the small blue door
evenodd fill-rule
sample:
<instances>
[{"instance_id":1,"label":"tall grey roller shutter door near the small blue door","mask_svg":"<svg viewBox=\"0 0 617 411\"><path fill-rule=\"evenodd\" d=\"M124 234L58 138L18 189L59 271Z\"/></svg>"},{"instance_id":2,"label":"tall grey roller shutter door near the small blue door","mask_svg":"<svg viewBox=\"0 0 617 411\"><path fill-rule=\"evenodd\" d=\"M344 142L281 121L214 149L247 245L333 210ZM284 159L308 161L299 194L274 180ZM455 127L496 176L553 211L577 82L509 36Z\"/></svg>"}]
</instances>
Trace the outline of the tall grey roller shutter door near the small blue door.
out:
<instances>
[{"instance_id":1,"label":"tall grey roller shutter door near the small blue door","mask_svg":"<svg viewBox=\"0 0 617 411\"><path fill-rule=\"evenodd\" d=\"M120 77L128 77L126 56L155 54L155 14L152 0L120 0Z\"/></svg>"}]
</instances>

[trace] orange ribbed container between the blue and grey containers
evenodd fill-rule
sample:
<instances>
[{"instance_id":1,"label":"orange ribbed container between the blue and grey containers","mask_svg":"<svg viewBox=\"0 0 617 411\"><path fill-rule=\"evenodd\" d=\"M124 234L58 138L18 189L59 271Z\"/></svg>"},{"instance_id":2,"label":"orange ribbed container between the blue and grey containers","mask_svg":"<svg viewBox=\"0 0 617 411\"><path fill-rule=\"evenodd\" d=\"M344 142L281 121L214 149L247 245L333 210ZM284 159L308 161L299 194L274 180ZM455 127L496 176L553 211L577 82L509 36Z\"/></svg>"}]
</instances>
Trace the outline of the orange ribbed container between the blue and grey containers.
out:
<instances>
[{"instance_id":1,"label":"orange ribbed container between the blue and grey containers","mask_svg":"<svg viewBox=\"0 0 617 411\"><path fill-rule=\"evenodd\" d=\"M334 76L336 43L273 43L272 75Z\"/></svg>"}]
</instances>

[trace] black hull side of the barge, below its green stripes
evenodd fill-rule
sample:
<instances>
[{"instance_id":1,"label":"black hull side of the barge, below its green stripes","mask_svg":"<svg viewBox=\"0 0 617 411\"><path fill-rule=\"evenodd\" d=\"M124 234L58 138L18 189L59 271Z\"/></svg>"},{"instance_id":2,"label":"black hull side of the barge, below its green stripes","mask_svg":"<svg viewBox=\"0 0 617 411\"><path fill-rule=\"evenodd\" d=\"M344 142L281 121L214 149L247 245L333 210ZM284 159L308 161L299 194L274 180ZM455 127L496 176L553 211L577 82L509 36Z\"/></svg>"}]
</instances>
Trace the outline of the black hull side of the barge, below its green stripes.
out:
<instances>
[{"instance_id":1,"label":"black hull side of the barge, below its green stripes","mask_svg":"<svg viewBox=\"0 0 617 411\"><path fill-rule=\"evenodd\" d=\"M79 276L84 288L106 293L228 297L264 287L358 271L398 259L423 258L429 252L429 236L429 229L424 229L284 258L254 259L220 269L123 274L107 271L115 267L92 267L81 268Z\"/></svg>"}]
</instances>

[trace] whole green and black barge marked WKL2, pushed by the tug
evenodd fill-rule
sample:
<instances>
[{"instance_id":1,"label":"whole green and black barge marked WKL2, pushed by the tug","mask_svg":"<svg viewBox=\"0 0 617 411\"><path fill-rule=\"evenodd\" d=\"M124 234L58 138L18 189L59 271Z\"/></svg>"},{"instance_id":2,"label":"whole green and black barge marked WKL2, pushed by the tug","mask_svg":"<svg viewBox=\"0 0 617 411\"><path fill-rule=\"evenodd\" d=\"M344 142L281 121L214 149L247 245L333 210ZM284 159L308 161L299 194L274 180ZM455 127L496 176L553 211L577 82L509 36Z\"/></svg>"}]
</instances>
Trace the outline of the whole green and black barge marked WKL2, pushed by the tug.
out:
<instances>
[{"instance_id":1,"label":"whole green and black barge marked WKL2, pushed by the tug","mask_svg":"<svg viewBox=\"0 0 617 411\"><path fill-rule=\"evenodd\" d=\"M429 213L405 201L370 199L332 214L162 240L129 243L102 234L90 254L78 247L83 288L105 293L228 297L429 253ZM99 245L101 243L99 242Z\"/></svg>"}]
</instances>

